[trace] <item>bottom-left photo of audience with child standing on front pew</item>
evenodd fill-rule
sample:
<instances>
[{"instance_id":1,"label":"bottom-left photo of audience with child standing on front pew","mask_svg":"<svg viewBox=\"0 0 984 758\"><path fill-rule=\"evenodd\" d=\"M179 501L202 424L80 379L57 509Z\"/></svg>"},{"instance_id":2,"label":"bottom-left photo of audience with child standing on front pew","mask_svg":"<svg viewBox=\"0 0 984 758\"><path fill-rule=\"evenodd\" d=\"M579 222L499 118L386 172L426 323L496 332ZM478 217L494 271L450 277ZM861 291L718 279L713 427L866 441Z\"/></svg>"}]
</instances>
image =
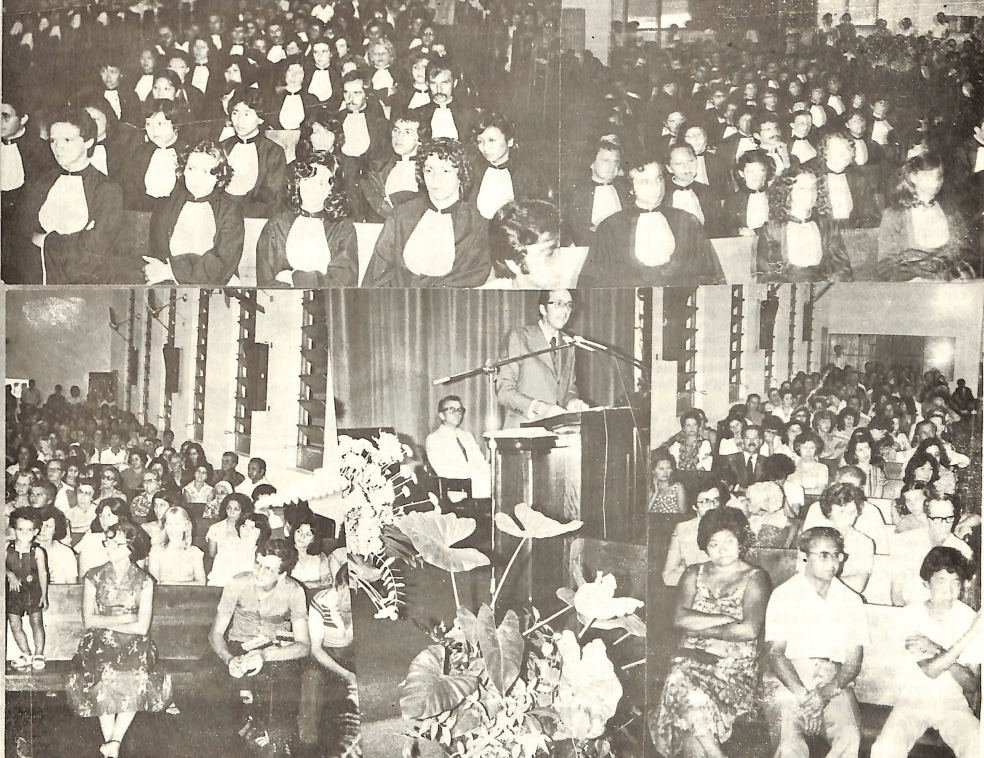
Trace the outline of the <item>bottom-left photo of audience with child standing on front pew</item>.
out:
<instances>
[{"instance_id":1,"label":"bottom-left photo of audience with child standing on front pew","mask_svg":"<svg viewBox=\"0 0 984 758\"><path fill-rule=\"evenodd\" d=\"M6 297L11 756L352 755L311 291Z\"/></svg>"}]
</instances>

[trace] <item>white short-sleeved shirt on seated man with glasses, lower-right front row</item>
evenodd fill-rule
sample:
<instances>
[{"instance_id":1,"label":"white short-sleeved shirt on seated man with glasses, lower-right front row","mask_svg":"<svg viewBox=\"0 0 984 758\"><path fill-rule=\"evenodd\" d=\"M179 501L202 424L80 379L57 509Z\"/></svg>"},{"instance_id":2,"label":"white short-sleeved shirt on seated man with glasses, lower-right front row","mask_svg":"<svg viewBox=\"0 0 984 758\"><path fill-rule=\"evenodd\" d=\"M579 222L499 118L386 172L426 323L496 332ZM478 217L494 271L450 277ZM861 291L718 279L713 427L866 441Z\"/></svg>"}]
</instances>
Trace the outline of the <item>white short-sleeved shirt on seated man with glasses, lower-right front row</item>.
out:
<instances>
[{"instance_id":1,"label":"white short-sleeved shirt on seated man with glasses, lower-right front row","mask_svg":"<svg viewBox=\"0 0 984 758\"><path fill-rule=\"evenodd\" d=\"M765 612L765 641L785 642L786 657L803 685L812 688L810 660L843 663L857 646L868 644L868 618L861 596L834 579L820 597L805 575L796 574L777 587Z\"/></svg>"}]
</instances>

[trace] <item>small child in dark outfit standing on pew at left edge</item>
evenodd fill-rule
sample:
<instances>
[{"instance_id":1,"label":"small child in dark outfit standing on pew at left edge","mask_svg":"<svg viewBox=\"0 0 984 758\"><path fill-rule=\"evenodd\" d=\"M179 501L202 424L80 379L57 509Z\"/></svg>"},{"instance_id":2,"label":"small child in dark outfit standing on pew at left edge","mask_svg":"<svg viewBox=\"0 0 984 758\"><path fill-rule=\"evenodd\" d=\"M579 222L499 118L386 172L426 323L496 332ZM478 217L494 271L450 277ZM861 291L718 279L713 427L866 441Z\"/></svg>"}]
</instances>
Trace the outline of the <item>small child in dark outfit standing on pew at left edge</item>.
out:
<instances>
[{"instance_id":1,"label":"small child in dark outfit standing on pew at left edge","mask_svg":"<svg viewBox=\"0 0 984 758\"><path fill-rule=\"evenodd\" d=\"M44 618L48 607L48 557L34 540L41 531L41 516L33 508L17 508L10 514L14 540L7 544L7 621L22 655L13 663L18 670L44 670ZM34 635L34 654L24 634L27 616Z\"/></svg>"}]
</instances>

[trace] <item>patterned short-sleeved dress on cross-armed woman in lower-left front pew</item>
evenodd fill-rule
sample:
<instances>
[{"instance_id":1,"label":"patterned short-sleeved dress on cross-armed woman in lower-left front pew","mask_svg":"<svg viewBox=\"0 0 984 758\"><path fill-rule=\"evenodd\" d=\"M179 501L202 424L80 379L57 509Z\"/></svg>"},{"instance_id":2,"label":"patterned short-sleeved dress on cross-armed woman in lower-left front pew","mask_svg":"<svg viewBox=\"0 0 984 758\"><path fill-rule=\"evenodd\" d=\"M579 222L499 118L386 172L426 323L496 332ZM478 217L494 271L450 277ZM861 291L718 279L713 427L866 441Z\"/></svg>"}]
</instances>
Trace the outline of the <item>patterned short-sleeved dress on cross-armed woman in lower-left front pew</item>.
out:
<instances>
[{"instance_id":1,"label":"patterned short-sleeved dress on cross-armed woman in lower-left front pew","mask_svg":"<svg viewBox=\"0 0 984 758\"><path fill-rule=\"evenodd\" d=\"M85 575L96 588L96 613L136 613L149 574L130 564L122 576L112 563ZM68 701L87 718L131 711L162 711L171 702L171 677L155 671L157 648L149 634L89 629L75 656L78 670L68 679Z\"/></svg>"}]
</instances>

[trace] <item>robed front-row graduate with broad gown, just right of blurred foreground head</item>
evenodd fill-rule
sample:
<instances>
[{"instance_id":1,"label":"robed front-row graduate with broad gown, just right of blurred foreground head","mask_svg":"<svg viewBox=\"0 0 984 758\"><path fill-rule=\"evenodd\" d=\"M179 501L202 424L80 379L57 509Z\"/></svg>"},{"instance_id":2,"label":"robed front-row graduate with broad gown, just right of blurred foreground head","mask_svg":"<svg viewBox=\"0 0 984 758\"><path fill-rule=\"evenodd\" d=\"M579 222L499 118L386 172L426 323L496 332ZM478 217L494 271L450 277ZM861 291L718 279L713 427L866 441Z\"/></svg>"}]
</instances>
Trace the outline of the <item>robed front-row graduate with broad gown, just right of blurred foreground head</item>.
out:
<instances>
[{"instance_id":1,"label":"robed front-row graduate with broad gown, just right of blurred foreground head","mask_svg":"<svg viewBox=\"0 0 984 758\"><path fill-rule=\"evenodd\" d=\"M582 283L599 287L633 284L715 284L724 271L701 223L664 203L663 167L654 155L630 161L634 203L598 226Z\"/></svg>"}]
</instances>

